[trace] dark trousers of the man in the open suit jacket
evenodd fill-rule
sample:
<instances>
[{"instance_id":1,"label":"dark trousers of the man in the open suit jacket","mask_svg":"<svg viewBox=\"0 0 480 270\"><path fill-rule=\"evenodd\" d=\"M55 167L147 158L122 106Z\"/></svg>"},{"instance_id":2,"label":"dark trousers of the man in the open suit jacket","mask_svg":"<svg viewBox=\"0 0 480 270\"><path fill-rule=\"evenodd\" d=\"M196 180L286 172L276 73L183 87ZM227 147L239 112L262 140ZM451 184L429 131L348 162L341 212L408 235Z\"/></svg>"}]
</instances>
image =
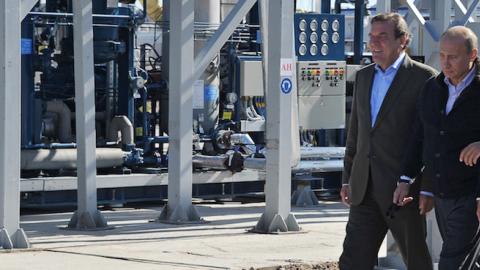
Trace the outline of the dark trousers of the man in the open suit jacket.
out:
<instances>
[{"instance_id":1,"label":"dark trousers of the man in the open suit jacket","mask_svg":"<svg viewBox=\"0 0 480 270\"><path fill-rule=\"evenodd\" d=\"M425 243L425 217L419 214L418 202L400 208L393 219L386 216L388 207L379 204L371 192L360 205L350 207L341 270L372 270L389 229L409 270L433 268Z\"/></svg>"}]
</instances>

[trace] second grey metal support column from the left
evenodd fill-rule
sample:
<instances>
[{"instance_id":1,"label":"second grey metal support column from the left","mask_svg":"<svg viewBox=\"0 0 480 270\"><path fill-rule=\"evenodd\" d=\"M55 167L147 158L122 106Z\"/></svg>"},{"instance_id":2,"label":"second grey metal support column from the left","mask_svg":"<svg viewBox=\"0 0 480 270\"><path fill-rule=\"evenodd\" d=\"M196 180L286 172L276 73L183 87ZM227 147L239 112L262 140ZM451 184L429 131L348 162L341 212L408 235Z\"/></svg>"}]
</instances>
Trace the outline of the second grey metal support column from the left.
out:
<instances>
[{"instance_id":1,"label":"second grey metal support column from the left","mask_svg":"<svg viewBox=\"0 0 480 270\"><path fill-rule=\"evenodd\" d=\"M97 210L97 166L95 159L95 76L93 71L92 0L73 4L73 47L75 61L75 115L77 137L78 209L69 229L108 228Z\"/></svg>"}]
</instances>

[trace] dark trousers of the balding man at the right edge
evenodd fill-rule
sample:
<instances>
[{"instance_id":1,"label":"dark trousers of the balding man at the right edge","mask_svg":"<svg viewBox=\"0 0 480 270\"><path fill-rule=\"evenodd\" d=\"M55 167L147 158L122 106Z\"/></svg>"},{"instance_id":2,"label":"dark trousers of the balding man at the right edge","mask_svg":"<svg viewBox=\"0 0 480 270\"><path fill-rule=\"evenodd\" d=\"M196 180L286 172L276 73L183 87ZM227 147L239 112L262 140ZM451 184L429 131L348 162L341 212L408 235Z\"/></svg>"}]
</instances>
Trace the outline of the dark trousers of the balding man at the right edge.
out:
<instances>
[{"instance_id":1,"label":"dark trousers of the balding man at the right edge","mask_svg":"<svg viewBox=\"0 0 480 270\"><path fill-rule=\"evenodd\" d=\"M435 198L435 215L442 235L439 270L458 269L473 246L478 229L476 196Z\"/></svg>"}]
</instances>

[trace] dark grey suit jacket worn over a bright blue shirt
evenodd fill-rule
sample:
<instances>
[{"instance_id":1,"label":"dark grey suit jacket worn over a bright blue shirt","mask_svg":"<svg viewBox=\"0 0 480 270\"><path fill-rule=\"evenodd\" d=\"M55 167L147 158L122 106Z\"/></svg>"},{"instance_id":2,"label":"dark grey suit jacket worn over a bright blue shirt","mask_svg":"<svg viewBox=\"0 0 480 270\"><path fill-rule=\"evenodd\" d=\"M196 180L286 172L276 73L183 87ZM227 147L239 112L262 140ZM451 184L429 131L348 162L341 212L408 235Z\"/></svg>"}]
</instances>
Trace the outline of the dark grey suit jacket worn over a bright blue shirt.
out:
<instances>
[{"instance_id":1,"label":"dark grey suit jacket worn over a bright blue shirt","mask_svg":"<svg viewBox=\"0 0 480 270\"><path fill-rule=\"evenodd\" d=\"M436 71L406 56L372 127L370 96L374 74L374 64L356 74L343 183L350 184L353 205L362 202L369 188L377 202L388 206L402 173L401 163L412 132L417 97ZM417 179L410 189L411 195L418 195L420 184L422 190L431 190L428 179Z\"/></svg>"}]
</instances>

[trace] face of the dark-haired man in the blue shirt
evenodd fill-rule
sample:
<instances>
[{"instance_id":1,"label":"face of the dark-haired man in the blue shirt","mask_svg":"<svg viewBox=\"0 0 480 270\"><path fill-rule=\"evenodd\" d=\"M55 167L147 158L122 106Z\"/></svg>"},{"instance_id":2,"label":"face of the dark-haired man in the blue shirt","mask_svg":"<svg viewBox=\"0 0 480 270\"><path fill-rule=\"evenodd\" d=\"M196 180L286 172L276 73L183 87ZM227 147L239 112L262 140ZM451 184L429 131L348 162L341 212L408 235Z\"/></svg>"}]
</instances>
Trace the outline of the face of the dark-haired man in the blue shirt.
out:
<instances>
[{"instance_id":1,"label":"face of the dark-haired man in the blue shirt","mask_svg":"<svg viewBox=\"0 0 480 270\"><path fill-rule=\"evenodd\" d=\"M392 22L374 22L370 30L368 46L372 52L373 62L383 70L397 60L406 46L405 36L395 38Z\"/></svg>"}]
</instances>

